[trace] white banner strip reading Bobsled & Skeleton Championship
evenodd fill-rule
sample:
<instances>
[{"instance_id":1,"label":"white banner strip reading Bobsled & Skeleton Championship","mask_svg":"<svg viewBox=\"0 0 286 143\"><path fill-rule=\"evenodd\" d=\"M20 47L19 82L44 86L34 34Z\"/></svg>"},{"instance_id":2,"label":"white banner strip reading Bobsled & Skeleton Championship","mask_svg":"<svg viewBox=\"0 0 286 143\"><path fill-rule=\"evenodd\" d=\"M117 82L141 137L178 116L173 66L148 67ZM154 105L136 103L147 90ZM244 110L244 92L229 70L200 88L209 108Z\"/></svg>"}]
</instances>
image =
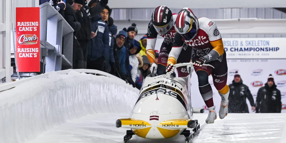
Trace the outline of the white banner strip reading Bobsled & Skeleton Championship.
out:
<instances>
[{"instance_id":1,"label":"white banner strip reading Bobsled & Skeleton Championship","mask_svg":"<svg viewBox=\"0 0 286 143\"><path fill-rule=\"evenodd\" d=\"M227 59L286 59L286 38L223 38Z\"/></svg>"}]
</instances>

